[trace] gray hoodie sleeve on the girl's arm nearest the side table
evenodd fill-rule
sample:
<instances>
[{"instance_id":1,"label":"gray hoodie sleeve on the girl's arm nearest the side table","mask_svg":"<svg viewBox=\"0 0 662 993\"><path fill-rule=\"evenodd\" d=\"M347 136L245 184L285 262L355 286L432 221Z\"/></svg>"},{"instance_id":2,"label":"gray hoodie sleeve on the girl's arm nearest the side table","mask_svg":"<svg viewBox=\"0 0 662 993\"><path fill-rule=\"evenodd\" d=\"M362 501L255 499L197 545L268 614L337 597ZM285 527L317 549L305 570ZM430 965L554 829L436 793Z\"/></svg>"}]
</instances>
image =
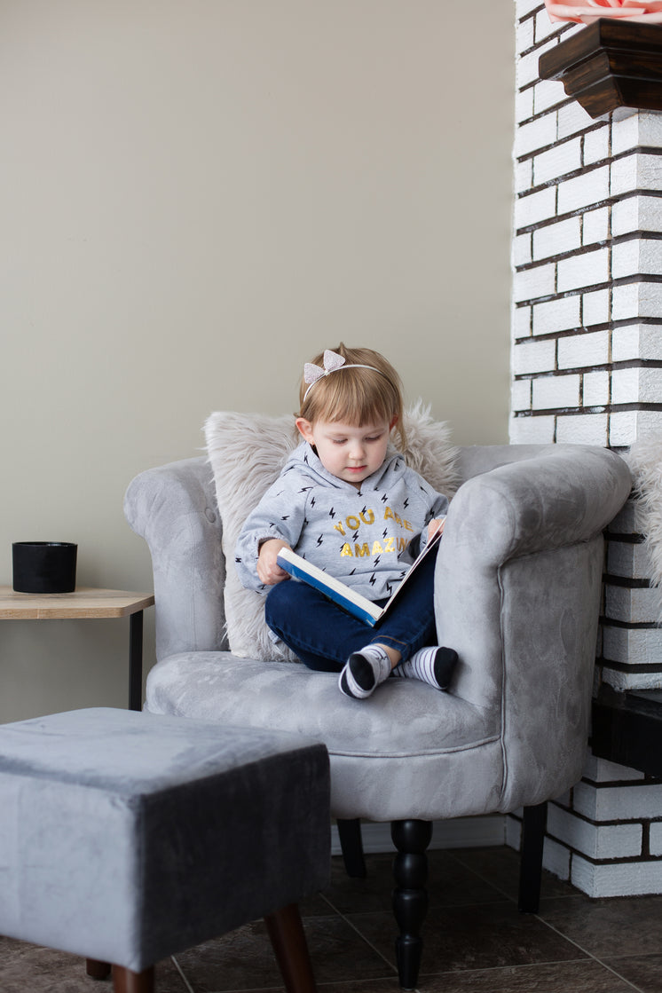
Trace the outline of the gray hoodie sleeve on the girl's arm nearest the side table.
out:
<instances>
[{"instance_id":1,"label":"gray hoodie sleeve on the girl's arm nearest the side table","mask_svg":"<svg viewBox=\"0 0 662 993\"><path fill-rule=\"evenodd\" d=\"M248 515L241 528L234 553L234 564L242 586L258 593L270 587L260 582L256 566L260 545L270 538L281 538L294 548L306 517L306 493L297 485L297 473L284 473Z\"/></svg>"}]
</instances>

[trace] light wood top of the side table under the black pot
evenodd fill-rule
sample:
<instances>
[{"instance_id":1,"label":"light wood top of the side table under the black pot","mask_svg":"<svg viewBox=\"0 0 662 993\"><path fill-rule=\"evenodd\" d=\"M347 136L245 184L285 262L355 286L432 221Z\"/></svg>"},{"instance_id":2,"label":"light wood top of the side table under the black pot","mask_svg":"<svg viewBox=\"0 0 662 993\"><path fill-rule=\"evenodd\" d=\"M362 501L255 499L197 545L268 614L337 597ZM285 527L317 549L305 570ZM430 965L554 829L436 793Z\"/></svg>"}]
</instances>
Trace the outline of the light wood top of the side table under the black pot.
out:
<instances>
[{"instance_id":1,"label":"light wood top of the side table under the black pot","mask_svg":"<svg viewBox=\"0 0 662 993\"><path fill-rule=\"evenodd\" d=\"M88 586L73 593L16 593L11 586L0 586L0 621L123 618L153 604L153 593Z\"/></svg>"}]
</instances>

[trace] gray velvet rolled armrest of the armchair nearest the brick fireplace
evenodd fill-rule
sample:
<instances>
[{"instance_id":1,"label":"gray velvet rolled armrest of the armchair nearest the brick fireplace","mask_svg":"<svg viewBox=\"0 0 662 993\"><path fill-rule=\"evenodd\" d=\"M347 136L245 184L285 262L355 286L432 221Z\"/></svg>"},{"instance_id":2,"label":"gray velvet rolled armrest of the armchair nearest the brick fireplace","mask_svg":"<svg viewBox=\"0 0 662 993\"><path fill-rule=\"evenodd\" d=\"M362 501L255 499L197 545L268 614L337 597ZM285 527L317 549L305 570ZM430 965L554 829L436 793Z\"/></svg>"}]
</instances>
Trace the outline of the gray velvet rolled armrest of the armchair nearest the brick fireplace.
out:
<instances>
[{"instance_id":1,"label":"gray velvet rolled armrest of the armchair nearest the brick fireplace","mask_svg":"<svg viewBox=\"0 0 662 993\"><path fill-rule=\"evenodd\" d=\"M531 803L581 776L601 532L630 488L615 453L571 445L473 477L451 502L435 577L438 636L460 655L452 691L501 714L503 809L521 800L513 783Z\"/></svg>"}]
</instances>

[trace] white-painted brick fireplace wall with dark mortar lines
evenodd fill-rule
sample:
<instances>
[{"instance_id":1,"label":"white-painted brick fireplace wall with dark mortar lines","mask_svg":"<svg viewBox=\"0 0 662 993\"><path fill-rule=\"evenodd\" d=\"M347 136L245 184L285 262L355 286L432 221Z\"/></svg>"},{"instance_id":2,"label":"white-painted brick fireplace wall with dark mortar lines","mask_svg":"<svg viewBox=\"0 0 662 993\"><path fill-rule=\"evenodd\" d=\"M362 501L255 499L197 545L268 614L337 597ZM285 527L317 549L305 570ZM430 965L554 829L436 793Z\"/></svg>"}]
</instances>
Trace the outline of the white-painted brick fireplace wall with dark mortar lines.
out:
<instances>
[{"instance_id":1,"label":"white-painted brick fireplace wall with dark mortar lines","mask_svg":"<svg viewBox=\"0 0 662 993\"><path fill-rule=\"evenodd\" d=\"M623 450L662 432L662 113L591 118L538 74L583 28L515 6L510 439ZM609 529L596 685L662 686L647 568L630 503ZM662 892L662 785L588 755L550 804L545 863L592 896Z\"/></svg>"}]
</instances>

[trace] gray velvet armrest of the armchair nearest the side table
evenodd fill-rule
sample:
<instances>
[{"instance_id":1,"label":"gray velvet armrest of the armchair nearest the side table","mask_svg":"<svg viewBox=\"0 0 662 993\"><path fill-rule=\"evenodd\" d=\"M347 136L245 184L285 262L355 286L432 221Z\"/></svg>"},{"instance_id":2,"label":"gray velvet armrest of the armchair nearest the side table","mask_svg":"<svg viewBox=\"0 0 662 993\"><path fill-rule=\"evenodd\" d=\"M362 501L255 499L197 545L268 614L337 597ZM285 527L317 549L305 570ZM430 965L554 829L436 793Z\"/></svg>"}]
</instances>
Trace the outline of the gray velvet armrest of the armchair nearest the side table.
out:
<instances>
[{"instance_id":1,"label":"gray velvet armrest of the armchair nearest the side table","mask_svg":"<svg viewBox=\"0 0 662 993\"><path fill-rule=\"evenodd\" d=\"M141 473L126 492L124 513L152 556L157 658L225 648L225 561L206 460Z\"/></svg>"}]
</instances>

